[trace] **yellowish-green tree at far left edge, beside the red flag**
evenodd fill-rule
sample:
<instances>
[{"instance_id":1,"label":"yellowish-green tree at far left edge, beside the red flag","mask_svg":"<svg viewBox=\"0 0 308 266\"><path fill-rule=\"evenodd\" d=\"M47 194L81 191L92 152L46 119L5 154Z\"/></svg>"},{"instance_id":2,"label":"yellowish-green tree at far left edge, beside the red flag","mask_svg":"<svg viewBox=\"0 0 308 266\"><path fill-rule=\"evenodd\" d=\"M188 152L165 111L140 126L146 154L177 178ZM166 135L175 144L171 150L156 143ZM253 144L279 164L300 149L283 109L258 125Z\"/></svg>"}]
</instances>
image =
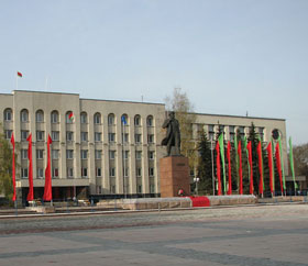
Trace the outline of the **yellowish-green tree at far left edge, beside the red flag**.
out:
<instances>
[{"instance_id":1,"label":"yellowish-green tree at far left edge, beside the red flag","mask_svg":"<svg viewBox=\"0 0 308 266\"><path fill-rule=\"evenodd\" d=\"M12 149L10 142L4 138L2 128L0 132L0 192L11 200L13 196Z\"/></svg>"}]
</instances>

